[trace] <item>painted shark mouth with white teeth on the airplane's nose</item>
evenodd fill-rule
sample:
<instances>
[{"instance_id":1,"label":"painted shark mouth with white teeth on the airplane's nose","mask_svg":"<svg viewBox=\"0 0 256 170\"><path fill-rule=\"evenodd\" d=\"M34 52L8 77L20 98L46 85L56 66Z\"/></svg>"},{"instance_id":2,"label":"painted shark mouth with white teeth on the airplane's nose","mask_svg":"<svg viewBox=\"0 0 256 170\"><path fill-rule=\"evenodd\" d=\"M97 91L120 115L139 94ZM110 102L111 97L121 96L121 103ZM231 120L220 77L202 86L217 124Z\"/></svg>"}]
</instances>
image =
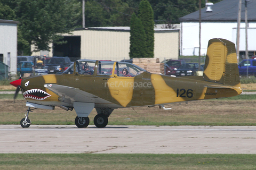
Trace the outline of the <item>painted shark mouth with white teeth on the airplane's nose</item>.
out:
<instances>
[{"instance_id":1,"label":"painted shark mouth with white teeth on the airplane's nose","mask_svg":"<svg viewBox=\"0 0 256 170\"><path fill-rule=\"evenodd\" d=\"M31 98L35 100L44 100L47 97L50 97L50 94L47 94L47 92L41 90L41 89L31 89L23 92L24 98Z\"/></svg>"}]
</instances>

